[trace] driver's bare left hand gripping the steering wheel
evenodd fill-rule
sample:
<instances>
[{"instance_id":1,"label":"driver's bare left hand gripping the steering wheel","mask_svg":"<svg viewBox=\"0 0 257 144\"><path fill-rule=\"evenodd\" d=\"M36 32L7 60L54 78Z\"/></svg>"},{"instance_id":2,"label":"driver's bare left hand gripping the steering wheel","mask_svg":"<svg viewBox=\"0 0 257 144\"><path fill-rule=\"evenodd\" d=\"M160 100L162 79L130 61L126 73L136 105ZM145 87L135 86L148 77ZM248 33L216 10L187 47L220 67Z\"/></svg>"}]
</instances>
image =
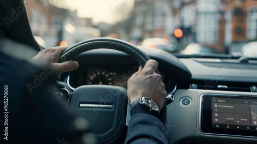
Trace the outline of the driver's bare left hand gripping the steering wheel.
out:
<instances>
[{"instance_id":1,"label":"driver's bare left hand gripping the steering wheel","mask_svg":"<svg viewBox=\"0 0 257 144\"><path fill-rule=\"evenodd\" d=\"M32 58L32 60L46 61L50 63L55 73L59 76L58 79L60 79L60 75L62 75L65 71L75 70L79 67L79 63L76 61L65 61L58 63L61 53L67 48L68 46L58 46L41 50L38 55Z\"/></svg>"}]
</instances>

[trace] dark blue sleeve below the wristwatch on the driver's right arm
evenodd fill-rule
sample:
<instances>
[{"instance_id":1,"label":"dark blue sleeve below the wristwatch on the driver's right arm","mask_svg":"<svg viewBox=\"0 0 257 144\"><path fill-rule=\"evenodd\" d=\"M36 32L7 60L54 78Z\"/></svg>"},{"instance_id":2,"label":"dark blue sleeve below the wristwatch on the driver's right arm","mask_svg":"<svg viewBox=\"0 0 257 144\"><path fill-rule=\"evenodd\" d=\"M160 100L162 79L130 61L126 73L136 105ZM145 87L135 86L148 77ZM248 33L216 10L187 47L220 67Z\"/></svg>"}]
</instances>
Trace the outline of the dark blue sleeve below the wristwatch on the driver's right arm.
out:
<instances>
[{"instance_id":1,"label":"dark blue sleeve below the wristwatch on the driver's right arm","mask_svg":"<svg viewBox=\"0 0 257 144\"><path fill-rule=\"evenodd\" d=\"M169 143L169 140L156 113L138 104L131 109L125 143Z\"/></svg>"}]
</instances>

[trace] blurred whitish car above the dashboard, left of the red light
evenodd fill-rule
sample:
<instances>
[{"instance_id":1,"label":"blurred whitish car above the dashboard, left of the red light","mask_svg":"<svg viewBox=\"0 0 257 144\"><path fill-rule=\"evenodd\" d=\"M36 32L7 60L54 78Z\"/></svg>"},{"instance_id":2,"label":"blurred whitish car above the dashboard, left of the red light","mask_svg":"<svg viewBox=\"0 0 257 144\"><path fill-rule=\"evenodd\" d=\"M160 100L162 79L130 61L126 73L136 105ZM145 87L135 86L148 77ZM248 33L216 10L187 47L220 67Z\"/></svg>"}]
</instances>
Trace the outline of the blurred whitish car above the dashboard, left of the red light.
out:
<instances>
[{"instance_id":1,"label":"blurred whitish car above the dashboard, left of the red light","mask_svg":"<svg viewBox=\"0 0 257 144\"><path fill-rule=\"evenodd\" d=\"M141 43L142 47L162 49L167 52L175 52L176 47L172 45L169 40L164 38L147 38Z\"/></svg>"}]
</instances>

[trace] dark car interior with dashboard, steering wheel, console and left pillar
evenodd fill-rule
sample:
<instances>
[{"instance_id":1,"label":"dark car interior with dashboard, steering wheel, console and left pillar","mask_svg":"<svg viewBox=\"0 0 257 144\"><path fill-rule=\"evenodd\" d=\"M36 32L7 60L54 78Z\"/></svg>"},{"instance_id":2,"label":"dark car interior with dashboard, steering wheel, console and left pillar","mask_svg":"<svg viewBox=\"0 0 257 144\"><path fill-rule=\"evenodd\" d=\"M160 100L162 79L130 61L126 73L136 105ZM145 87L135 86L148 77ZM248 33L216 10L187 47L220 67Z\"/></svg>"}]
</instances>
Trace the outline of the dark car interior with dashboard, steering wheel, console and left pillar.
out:
<instances>
[{"instance_id":1,"label":"dark car interior with dashboard, steering wheel, console and left pillar","mask_svg":"<svg viewBox=\"0 0 257 144\"><path fill-rule=\"evenodd\" d=\"M0 37L44 49L34 39L24 1L1 1L0 19ZM70 59L79 68L61 75L56 95L89 121L97 143L124 142L127 80L150 59L158 62L168 94L161 120L170 143L257 143L256 57L181 55L94 38L70 46L59 62Z\"/></svg>"}]
</instances>

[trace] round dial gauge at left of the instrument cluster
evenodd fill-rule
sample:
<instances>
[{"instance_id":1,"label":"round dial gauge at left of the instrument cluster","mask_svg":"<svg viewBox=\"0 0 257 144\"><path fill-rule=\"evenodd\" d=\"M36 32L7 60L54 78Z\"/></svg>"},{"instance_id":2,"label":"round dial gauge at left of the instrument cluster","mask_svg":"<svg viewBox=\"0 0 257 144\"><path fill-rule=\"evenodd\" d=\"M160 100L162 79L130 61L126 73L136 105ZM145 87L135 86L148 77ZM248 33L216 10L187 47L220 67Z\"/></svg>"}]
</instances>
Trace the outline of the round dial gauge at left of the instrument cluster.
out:
<instances>
[{"instance_id":1,"label":"round dial gauge at left of the instrument cluster","mask_svg":"<svg viewBox=\"0 0 257 144\"><path fill-rule=\"evenodd\" d=\"M109 73L107 70L99 69L89 75L87 84L105 84L114 85L114 79L112 75L115 73Z\"/></svg>"}]
</instances>

